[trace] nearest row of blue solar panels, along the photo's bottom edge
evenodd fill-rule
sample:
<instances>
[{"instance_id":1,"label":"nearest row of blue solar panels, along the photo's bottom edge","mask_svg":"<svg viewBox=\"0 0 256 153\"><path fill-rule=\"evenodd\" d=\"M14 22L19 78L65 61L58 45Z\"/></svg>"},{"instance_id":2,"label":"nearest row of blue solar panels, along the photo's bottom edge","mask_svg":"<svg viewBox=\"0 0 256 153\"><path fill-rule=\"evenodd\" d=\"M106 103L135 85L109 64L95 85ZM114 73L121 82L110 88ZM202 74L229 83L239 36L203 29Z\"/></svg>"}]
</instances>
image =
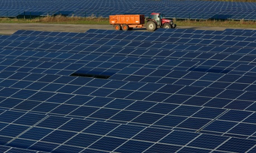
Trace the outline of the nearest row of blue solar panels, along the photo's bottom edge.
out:
<instances>
[{"instance_id":1,"label":"nearest row of blue solar panels, along the photo's bottom edge","mask_svg":"<svg viewBox=\"0 0 256 153\"><path fill-rule=\"evenodd\" d=\"M12 120L1 120L2 125L5 125L1 131L4 135L9 136L2 136L1 142L8 141L8 147L3 146L2 150L19 145L27 148L26 151L40 149L52 152L93 152L93 150L95 152L99 152L96 150L105 150L102 152L113 150L118 152L155 152L156 150L161 152L209 152L215 148L220 152L244 152L255 145L254 140L235 137L71 119L61 116L24 114L15 111L5 111L0 118L3 116L11 116ZM19 117L17 118L17 116ZM27 124L19 125L23 124L24 120L28 121ZM37 123L40 120L42 121ZM54 125L52 125L53 122ZM17 129L17 127L19 130L8 134L8 131ZM22 131L21 136L12 139L13 135ZM123 131L126 131L126 134ZM155 143L156 141L157 143ZM173 145L169 145L170 143ZM84 148L87 149L84 150ZM14 150L9 150L9 152L11 151Z\"/></svg>"}]
</instances>

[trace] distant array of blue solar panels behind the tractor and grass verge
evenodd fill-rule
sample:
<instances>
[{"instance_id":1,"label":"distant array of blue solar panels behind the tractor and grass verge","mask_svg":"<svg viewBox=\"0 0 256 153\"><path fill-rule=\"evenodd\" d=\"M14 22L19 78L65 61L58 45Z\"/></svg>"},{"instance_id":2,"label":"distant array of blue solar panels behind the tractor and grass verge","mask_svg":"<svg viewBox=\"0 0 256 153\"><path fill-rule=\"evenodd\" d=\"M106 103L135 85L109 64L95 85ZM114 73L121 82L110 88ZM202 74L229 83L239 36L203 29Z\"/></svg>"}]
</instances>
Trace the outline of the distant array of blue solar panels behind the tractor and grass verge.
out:
<instances>
[{"instance_id":1,"label":"distant array of blue solar panels behind the tractor and grass verge","mask_svg":"<svg viewBox=\"0 0 256 153\"><path fill-rule=\"evenodd\" d=\"M132 7L131 7L132 6ZM65 16L109 17L113 14L145 14L159 12L178 19L235 19L256 20L256 4L250 2L216 1L31 1L8 0L0 2L0 17Z\"/></svg>"}]
</instances>

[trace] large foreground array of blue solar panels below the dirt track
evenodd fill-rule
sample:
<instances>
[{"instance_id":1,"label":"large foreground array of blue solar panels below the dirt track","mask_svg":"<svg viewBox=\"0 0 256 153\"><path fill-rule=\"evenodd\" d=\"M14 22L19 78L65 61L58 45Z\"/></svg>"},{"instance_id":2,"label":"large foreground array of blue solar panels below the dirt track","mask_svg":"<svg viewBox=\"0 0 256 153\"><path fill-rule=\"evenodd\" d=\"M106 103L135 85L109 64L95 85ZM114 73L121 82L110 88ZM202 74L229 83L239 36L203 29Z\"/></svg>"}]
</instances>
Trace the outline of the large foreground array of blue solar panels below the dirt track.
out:
<instances>
[{"instance_id":1,"label":"large foreground array of blue solar panels below the dirt track","mask_svg":"<svg viewBox=\"0 0 256 153\"><path fill-rule=\"evenodd\" d=\"M1 152L255 152L255 30L0 37Z\"/></svg>"}]
</instances>

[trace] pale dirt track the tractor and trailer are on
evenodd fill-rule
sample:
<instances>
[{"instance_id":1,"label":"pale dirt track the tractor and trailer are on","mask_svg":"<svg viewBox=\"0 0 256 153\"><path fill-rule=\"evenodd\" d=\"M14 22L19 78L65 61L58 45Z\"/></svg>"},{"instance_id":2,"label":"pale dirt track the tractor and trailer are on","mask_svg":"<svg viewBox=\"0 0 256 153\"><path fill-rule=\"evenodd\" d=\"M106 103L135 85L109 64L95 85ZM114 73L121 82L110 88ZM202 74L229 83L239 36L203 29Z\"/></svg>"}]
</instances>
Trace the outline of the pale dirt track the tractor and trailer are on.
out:
<instances>
[{"instance_id":1,"label":"pale dirt track the tractor and trailer are on","mask_svg":"<svg viewBox=\"0 0 256 153\"><path fill-rule=\"evenodd\" d=\"M202 30L224 30L226 27L179 27L186 29ZM43 23L0 23L0 34L12 34L17 30L41 30L55 32L85 32L88 29L114 29L112 25L93 25L93 24L43 24ZM134 30L146 31L145 28Z\"/></svg>"}]
</instances>

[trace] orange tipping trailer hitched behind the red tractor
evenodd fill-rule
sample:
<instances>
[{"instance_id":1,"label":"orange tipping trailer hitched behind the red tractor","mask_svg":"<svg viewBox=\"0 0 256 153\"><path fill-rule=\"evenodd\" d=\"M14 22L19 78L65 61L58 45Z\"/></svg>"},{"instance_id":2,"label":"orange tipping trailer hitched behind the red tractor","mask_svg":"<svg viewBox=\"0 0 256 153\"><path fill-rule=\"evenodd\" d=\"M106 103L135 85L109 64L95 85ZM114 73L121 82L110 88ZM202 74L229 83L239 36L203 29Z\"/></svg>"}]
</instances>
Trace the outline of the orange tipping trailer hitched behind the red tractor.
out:
<instances>
[{"instance_id":1,"label":"orange tipping trailer hitched behind the red tractor","mask_svg":"<svg viewBox=\"0 0 256 153\"><path fill-rule=\"evenodd\" d=\"M144 27L145 16L143 14L120 14L109 16L109 21L116 30L131 30Z\"/></svg>"}]
</instances>

